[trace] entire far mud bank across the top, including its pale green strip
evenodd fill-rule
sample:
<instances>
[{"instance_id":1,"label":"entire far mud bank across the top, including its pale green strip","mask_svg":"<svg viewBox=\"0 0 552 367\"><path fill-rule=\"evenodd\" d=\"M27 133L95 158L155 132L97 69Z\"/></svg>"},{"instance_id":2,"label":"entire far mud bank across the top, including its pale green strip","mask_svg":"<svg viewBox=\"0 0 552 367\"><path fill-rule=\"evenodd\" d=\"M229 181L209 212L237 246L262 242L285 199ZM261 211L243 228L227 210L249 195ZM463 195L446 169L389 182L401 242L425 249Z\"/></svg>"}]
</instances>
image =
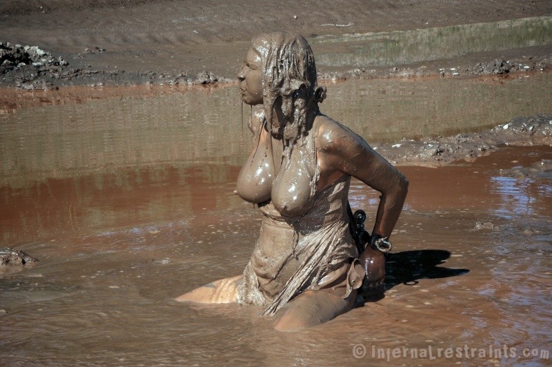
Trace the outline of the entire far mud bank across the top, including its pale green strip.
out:
<instances>
[{"instance_id":1,"label":"entire far mud bank across the top, including its pale green strip","mask_svg":"<svg viewBox=\"0 0 552 367\"><path fill-rule=\"evenodd\" d=\"M0 4L0 41L38 46L68 65L2 68L0 87L226 82L235 79L250 39L272 30L306 36L322 79L546 72L550 14L545 0L483 0L462 8L442 0L323 0L300 7L295 1L275 7L9 0Z\"/></svg>"}]
</instances>

